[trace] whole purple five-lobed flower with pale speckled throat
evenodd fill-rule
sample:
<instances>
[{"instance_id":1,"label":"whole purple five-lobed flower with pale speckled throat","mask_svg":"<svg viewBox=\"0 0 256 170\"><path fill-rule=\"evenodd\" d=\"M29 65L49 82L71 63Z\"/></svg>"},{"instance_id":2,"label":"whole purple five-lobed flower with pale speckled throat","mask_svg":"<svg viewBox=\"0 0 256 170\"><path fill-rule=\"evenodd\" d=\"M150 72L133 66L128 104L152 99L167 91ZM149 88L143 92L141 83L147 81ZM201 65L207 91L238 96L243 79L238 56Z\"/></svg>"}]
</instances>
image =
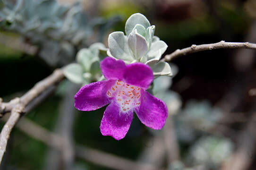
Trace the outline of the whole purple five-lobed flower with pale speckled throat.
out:
<instances>
[{"instance_id":1,"label":"whole purple five-lobed flower with pale speckled throat","mask_svg":"<svg viewBox=\"0 0 256 170\"><path fill-rule=\"evenodd\" d=\"M146 91L154 79L149 66L126 65L122 60L107 57L102 60L101 68L107 80L83 86L75 95L75 107L90 111L109 104L100 126L103 136L124 138L134 111L147 127L161 129L164 126L168 116L165 103Z\"/></svg>"}]
</instances>

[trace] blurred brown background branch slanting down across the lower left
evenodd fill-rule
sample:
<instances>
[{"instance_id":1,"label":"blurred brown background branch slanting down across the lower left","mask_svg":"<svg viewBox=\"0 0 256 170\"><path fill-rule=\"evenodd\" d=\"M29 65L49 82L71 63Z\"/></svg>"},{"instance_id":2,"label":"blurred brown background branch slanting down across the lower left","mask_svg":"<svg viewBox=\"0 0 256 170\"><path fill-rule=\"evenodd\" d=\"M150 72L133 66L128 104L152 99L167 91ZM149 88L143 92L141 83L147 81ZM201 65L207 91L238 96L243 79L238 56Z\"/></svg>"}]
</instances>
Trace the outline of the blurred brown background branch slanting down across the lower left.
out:
<instances>
[{"instance_id":1,"label":"blurred brown background branch slanting down across the lower left","mask_svg":"<svg viewBox=\"0 0 256 170\"><path fill-rule=\"evenodd\" d=\"M3 117L3 119L1 120L6 121L6 118ZM20 119L16 127L28 136L31 136L59 150L61 150L64 146L65 138L50 132L49 130L35 124L29 119ZM105 153L81 145L76 145L76 155L77 157L82 158L85 161L90 161L114 170L162 170L160 168L155 168L153 165L148 163L131 161L126 158L113 155L111 153Z\"/></svg>"}]
</instances>

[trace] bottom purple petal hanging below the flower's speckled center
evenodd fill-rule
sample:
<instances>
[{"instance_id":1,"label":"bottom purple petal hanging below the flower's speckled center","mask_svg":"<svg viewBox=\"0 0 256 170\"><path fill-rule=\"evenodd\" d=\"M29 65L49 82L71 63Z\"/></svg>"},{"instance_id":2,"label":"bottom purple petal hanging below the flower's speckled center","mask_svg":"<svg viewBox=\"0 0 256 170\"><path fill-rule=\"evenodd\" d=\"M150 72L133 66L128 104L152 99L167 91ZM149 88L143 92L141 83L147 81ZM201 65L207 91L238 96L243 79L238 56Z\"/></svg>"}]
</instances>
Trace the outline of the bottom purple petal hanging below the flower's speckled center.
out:
<instances>
[{"instance_id":1,"label":"bottom purple petal hanging below the flower's speckled center","mask_svg":"<svg viewBox=\"0 0 256 170\"><path fill-rule=\"evenodd\" d=\"M119 106L111 102L107 106L101 121L101 132L103 136L112 136L116 140L124 138L129 130L133 118L133 111L120 112Z\"/></svg>"}]
</instances>

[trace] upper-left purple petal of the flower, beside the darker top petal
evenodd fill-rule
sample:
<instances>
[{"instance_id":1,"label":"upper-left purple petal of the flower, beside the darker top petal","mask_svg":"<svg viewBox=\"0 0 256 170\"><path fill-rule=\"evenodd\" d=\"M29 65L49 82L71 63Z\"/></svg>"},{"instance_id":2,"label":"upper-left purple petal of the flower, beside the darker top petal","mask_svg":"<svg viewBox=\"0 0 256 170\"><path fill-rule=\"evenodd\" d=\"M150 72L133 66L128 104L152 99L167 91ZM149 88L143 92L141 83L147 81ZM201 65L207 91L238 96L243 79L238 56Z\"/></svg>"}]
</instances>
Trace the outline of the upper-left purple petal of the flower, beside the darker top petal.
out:
<instances>
[{"instance_id":1,"label":"upper-left purple petal of the flower, beside the darker top petal","mask_svg":"<svg viewBox=\"0 0 256 170\"><path fill-rule=\"evenodd\" d=\"M101 62L102 74L106 79L123 79L123 74L126 68L123 60L116 60L111 57L106 57Z\"/></svg>"}]
</instances>

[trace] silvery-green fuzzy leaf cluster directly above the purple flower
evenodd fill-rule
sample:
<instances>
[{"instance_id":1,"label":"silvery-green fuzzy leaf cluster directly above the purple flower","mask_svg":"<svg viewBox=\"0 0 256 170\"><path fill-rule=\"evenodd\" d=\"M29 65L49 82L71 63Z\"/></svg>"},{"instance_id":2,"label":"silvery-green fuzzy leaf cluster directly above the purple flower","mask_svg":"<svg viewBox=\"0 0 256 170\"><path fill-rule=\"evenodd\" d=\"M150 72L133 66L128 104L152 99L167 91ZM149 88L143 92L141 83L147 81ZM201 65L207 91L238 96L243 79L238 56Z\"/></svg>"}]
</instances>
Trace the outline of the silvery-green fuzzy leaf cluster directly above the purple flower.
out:
<instances>
[{"instance_id":1,"label":"silvery-green fuzzy leaf cluster directly above the purple flower","mask_svg":"<svg viewBox=\"0 0 256 170\"><path fill-rule=\"evenodd\" d=\"M122 59L126 63L142 62L149 65L154 76L172 76L167 62L159 61L167 49L167 44L154 36L155 26L148 19L136 13L125 24L125 32L113 32L109 35L108 56Z\"/></svg>"}]
</instances>

